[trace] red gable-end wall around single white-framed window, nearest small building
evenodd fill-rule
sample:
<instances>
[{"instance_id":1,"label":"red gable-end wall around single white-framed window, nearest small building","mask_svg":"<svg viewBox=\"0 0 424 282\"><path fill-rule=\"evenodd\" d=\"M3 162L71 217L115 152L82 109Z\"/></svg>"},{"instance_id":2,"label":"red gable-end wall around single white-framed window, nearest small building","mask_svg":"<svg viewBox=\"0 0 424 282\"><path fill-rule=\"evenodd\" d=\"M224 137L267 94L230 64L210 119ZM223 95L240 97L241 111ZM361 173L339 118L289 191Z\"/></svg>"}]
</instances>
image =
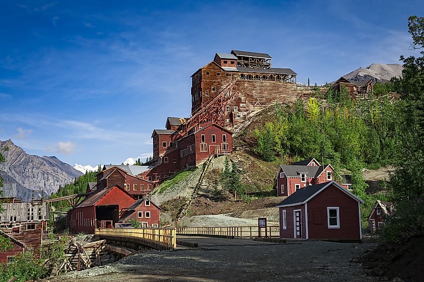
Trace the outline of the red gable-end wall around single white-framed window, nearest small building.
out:
<instances>
[{"instance_id":1,"label":"red gable-end wall around single white-framed window, nearest small building","mask_svg":"<svg viewBox=\"0 0 424 282\"><path fill-rule=\"evenodd\" d=\"M340 228L328 228L327 207L339 207ZM359 240L358 201L330 185L308 202L310 239Z\"/></svg>"}]
</instances>

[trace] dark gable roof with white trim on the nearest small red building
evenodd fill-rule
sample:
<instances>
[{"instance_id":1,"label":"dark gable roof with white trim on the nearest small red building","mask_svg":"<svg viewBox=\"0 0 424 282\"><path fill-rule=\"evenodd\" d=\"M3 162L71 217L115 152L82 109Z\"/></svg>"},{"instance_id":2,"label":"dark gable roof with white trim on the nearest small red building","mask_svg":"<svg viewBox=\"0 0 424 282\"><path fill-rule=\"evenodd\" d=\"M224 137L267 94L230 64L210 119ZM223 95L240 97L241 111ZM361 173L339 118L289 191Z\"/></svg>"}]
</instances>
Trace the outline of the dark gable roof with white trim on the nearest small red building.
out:
<instances>
[{"instance_id":1,"label":"dark gable roof with white trim on the nearest small red building","mask_svg":"<svg viewBox=\"0 0 424 282\"><path fill-rule=\"evenodd\" d=\"M295 193L291 194L289 197L284 199L282 202L280 202L277 205L277 207L285 207L285 206L294 206L294 205L304 204L304 203L310 201L312 198L314 198L319 193L321 193L325 188L329 187L330 185L334 185L335 187L339 188L341 191L346 193L348 196L350 196L354 200L356 200L360 203L363 203L363 201L360 198L358 198L357 196L355 196L354 194L352 194L351 192L349 192L348 190L346 190L345 188L343 188L342 186L340 186L337 182L335 182L333 180L333 181L330 181L330 182L325 182L325 183L321 183L321 184L311 185L311 186L308 186L306 188L302 188L302 189L296 191Z\"/></svg>"}]
</instances>

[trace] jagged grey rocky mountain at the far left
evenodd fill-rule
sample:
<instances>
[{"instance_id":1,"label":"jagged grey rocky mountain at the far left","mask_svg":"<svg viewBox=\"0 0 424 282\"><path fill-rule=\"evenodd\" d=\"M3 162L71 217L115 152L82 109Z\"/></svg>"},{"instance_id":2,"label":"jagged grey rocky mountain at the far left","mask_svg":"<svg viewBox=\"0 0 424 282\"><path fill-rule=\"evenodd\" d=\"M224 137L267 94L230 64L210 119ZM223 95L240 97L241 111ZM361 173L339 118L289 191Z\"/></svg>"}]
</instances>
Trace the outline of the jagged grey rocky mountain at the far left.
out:
<instances>
[{"instance_id":1,"label":"jagged grey rocky mountain at the far left","mask_svg":"<svg viewBox=\"0 0 424 282\"><path fill-rule=\"evenodd\" d=\"M59 185L72 182L82 172L52 156L39 157L27 154L12 140L0 141L0 147L8 146L6 162L0 164L5 183L17 183L18 197L31 198L32 190L43 190L50 195Z\"/></svg>"}]
</instances>

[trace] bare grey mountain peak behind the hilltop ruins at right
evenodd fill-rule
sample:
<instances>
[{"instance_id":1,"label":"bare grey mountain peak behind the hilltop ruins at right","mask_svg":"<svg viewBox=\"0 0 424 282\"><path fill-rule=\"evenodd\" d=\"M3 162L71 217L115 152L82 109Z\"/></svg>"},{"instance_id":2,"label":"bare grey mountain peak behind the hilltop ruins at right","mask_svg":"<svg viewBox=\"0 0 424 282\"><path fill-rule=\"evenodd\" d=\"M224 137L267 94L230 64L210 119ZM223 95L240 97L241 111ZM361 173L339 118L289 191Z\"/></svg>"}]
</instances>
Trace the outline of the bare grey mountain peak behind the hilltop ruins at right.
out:
<instances>
[{"instance_id":1,"label":"bare grey mountain peak behind the hilltop ruins at right","mask_svg":"<svg viewBox=\"0 0 424 282\"><path fill-rule=\"evenodd\" d=\"M366 68L359 68L344 77L349 81L386 82L393 77L402 76L402 65L400 64L372 64Z\"/></svg>"}]
</instances>

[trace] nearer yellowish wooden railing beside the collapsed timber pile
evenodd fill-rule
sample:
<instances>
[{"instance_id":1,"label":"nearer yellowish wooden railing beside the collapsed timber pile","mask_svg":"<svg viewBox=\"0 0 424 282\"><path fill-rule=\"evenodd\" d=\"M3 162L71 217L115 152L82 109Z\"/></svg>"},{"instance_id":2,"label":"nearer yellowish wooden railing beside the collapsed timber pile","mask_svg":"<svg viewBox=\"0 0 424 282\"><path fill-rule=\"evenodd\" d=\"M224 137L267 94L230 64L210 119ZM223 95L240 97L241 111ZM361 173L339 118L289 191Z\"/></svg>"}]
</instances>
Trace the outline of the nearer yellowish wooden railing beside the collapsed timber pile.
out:
<instances>
[{"instance_id":1,"label":"nearer yellowish wooden railing beside the collapsed timber pile","mask_svg":"<svg viewBox=\"0 0 424 282\"><path fill-rule=\"evenodd\" d=\"M97 228L94 234L101 239L137 243L157 250L177 247L176 228Z\"/></svg>"}]
</instances>

